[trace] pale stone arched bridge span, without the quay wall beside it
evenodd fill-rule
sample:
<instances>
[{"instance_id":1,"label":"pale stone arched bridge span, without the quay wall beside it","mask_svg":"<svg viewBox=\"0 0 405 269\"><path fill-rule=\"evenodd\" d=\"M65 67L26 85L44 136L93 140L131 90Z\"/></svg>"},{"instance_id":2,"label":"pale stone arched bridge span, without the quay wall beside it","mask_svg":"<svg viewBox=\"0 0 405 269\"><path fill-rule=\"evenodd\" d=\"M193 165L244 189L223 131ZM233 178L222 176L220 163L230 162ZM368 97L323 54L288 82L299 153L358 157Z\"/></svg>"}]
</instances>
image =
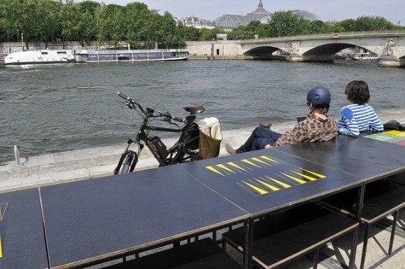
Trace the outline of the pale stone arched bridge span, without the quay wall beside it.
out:
<instances>
[{"instance_id":1,"label":"pale stone arched bridge span, without the quay wall beside it","mask_svg":"<svg viewBox=\"0 0 405 269\"><path fill-rule=\"evenodd\" d=\"M380 66L405 67L405 31L344 33L341 35L300 35L247 40L242 54L255 59L284 57L291 62L333 62L345 48L363 48L379 56ZM276 51L279 53L274 54Z\"/></svg>"}]
</instances>

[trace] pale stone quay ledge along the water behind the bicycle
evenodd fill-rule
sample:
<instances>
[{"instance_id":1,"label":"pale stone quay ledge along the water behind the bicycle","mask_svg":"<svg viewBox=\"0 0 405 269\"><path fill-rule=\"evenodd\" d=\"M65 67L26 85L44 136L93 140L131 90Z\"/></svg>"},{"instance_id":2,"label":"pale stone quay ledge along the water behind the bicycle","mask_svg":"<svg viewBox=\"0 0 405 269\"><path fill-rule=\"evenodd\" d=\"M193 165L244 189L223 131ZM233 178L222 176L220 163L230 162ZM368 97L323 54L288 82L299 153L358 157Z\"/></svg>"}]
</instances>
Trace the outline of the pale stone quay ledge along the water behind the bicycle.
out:
<instances>
[{"instance_id":1,"label":"pale stone quay ledge along the water behind the bicycle","mask_svg":"<svg viewBox=\"0 0 405 269\"><path fill-rule=\"evenodd\" d=\"M395 112L389 114L387 121L389 119L404 122L403 116ZM383 122L386 121L383 120ZM285 133L293 128L295 124L295 121L274 124L271 129L279 133ZM225 143L238 148L246 141L255 127L222 131L223 140L220 156L227 155ZM162 140L166 145L173 145L175 142L174 138L162 138ZM23 156L20 158L21 165L16 165L15 161L0 164L0 193L113 175L125 143L123 141L123 143L114 146L70 150L38 156ZM141 153L136 170L157 167L158 162L145 148Z\"/></svg>"}]
</instances>

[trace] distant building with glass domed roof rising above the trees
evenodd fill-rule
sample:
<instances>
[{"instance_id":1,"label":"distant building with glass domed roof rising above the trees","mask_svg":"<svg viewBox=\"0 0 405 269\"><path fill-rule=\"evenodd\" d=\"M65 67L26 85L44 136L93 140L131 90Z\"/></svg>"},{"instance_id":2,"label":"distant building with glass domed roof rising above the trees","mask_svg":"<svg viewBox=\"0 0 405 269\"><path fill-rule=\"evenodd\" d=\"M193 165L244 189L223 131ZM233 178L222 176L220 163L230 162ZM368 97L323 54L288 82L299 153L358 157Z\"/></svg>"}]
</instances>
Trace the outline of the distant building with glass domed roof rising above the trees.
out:
<instances>
[{"instance_id":1,"label":"distant building with glass domed roof rising above the trees","mask_svg":"<svg viewBox=\"0 0 405 269\"><path fill-rule=\"evenodd\" d=\"M304 10L291 11L298 16L301 16L310 21L320 20L314 13ZM188 17L181 20L185 26L194 26L195 28L225 28L229 31L238 26L247 26L251 21L260 21L261 23L267 23L271 19L271 12L266 11L263 7L263 3L259 0L259 6L255 11L249 12L246 15L233 15L224 14L214 21L208 21L197 17Z\"/></svg>"}]
</instances>

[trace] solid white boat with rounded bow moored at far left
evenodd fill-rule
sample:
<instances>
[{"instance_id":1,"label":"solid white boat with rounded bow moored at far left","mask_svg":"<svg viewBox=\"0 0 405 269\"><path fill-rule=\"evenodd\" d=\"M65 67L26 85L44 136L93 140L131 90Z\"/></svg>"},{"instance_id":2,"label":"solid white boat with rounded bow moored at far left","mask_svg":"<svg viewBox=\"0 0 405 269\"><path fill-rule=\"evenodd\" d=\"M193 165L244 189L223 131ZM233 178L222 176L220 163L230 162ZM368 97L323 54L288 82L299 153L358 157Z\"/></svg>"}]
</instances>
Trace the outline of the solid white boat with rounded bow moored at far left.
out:
<instances>
[{"instance_id":1,"label":"solid white boat with rounded bow moored at far left","mask_svg":"<svg viewBox=\"0 0 405 269\"><path fill-rule=\"evenodd\" d=\"M74 50L26 50L10 53L4 65L33 65L75 62Z\"/></svg>"}]
</instances>

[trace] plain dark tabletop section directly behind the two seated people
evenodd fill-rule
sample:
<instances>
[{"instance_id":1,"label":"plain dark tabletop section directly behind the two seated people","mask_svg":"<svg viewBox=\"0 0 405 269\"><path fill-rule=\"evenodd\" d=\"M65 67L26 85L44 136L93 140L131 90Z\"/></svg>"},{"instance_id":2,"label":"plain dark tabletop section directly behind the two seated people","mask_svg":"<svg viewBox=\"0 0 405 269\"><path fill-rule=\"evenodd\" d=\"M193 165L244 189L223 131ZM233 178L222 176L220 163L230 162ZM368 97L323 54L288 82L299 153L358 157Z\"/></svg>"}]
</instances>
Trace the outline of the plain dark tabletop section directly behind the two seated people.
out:
<instances>
[{"instance_id":1,"label":"plain dark tabletop section directly behind the two seated people","mask_svg":"<svg viewBox=\"0 0 405 269\"><path fill-rule=\"evenodd\" d=\"M382 136L382 133L377 135ZM281 146L271 150L312 160L365 181L405 170L405 147L374 138L338 136L332 141Z\"/></svg>"}]
</instances>

